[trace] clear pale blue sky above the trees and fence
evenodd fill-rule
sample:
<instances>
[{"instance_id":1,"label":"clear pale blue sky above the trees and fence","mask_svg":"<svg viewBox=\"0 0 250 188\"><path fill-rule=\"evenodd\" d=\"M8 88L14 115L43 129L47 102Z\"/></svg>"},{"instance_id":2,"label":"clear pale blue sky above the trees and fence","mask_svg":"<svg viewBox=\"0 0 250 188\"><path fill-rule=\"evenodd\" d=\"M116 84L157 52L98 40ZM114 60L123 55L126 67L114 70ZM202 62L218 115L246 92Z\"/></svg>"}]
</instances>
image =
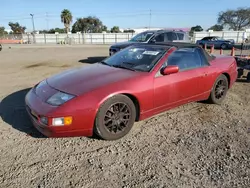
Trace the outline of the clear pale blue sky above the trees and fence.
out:
<instances>
[{"instance_id":1,"label":"clear pale blue sky above the trees and fence","mask_svg":"<svg viewBox=\"0 0 250 188\"><path fill-rule=\"evenodd\" d=\"M249 7L249 0L1 0L0 26L19 22L32 30L30 13L36 29L63 27L60 13L64 8L76 18L97 16L108 28L192 27L204 29L217 21L220 11ZM151 9L151 22L150 22ZM47 14L47 16L46 16Z\"/></svg>"}]
</instances>

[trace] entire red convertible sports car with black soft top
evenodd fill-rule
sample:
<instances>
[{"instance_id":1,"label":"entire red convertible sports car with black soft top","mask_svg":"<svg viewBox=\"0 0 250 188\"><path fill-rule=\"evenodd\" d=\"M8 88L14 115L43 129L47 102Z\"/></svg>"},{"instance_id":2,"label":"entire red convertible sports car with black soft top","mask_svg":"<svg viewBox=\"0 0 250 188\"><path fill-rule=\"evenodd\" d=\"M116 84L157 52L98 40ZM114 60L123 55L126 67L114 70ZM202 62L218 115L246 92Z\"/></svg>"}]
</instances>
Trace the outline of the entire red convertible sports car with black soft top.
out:
<instances>
[{"instance_id":1,"label":"entire red convertible sports car with black soft top","mask_svg":"<svg viewBox=\"0 0 250 188\"><path fill-rule=\"evenodd\" d=\"M135 121L168 109L204 100L220 104L236 78L232 56L210 55L195 44L136 44L41 81L25 101L47 137L96 133L114 140Z\"/></svg>"}]
</instances>

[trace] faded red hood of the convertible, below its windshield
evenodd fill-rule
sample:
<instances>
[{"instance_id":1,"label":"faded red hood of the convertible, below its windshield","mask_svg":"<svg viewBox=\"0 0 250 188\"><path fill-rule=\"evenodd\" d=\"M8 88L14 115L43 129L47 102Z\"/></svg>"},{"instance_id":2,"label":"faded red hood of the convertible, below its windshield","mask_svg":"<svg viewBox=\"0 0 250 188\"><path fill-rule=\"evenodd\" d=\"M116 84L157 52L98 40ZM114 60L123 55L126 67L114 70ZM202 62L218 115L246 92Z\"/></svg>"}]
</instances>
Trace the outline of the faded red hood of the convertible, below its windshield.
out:
<instances>
[{"instance_id":1,"label":"faded red hood of the convertible, below its windshield","mask_svg":"<svg viewBox=\"0 0 250 188\"><path fill-rule=\"evenodd\" d=\"M54 75L47 79L47 83L56 90L81 95L99 87L141 74L140 72L95 63Z\"/></svg>"}]
</instances>

